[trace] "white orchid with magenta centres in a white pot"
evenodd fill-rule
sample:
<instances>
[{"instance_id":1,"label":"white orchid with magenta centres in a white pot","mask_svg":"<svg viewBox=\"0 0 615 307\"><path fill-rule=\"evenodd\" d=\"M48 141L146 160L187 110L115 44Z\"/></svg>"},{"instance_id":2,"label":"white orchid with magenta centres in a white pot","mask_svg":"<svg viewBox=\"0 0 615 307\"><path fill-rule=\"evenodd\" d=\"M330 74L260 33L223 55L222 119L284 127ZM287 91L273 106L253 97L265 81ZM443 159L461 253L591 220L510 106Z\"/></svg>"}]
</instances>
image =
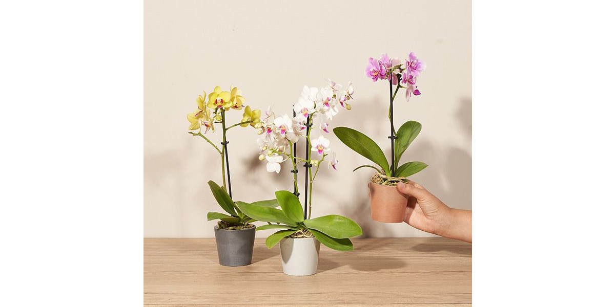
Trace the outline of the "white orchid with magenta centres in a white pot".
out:
<instances>
[{"instance_id":1,"label":"white orchid with magenta centres in a white pot","mask_svg":"<svg viewBox=\"0 0 615 307\"><path fill-rule=\"evenodd\" d=\"M293 169L294 192L276 192L281 209L237 202L237 206L249 217L268 222L256 230L280 229L269 236L265 243L271 248L280 243L282 268L285 274L305 276L316 273L320 243L337 251L351 251L349 238L362 235L361 227L353 220L331 214L312 218L312 188L320 168L327 164L336 169L338 160L325 138L329 133L329 121L339 109L351 109L349 101L354 89L352 84L344 89L329 80L323 88L304 87L301 97L293 106L293 117L287 114L276 117L271 107L266 112L259 134L260 160L266 160L269 172L279 173L280 163L290 161ZM306 153L299 157L296 143L306 142ZM301 208L297 182L298 163L305 167L304 206Z\"/></svg>"}]
</instances>

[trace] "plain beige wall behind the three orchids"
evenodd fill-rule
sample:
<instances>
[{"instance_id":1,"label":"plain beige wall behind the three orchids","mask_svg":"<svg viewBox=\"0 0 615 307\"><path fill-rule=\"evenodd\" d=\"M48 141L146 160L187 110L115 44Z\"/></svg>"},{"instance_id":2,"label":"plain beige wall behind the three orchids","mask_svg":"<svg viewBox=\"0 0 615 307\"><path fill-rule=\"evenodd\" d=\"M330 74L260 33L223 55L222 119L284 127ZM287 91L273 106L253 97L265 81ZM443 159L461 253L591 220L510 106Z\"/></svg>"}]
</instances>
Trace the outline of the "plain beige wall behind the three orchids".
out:
<instances>
[{"instance_id":1,"label":"plain beige wall behind the three orchids","mask_svg":"<svg viewBox=\"0 0 615 307\"><path fill-rule=\"evenodd\" d=\"M388 85L364 74L367 58L385 52L403 58L414 51L427 63L418 80L423 95L395 101L395 126L423 124L405 159L429 167L413 179L449 206L471 209L471 39L470 1L145 1L144 235L213 236L215 222L206 215L220 210L207 181L221 182L219 156L188 134L186 114L215 85L235 84L251 106L274 104L281 114L292 112L303 85L321 87L327 77L352 81L353 109L333 125L363 131L388 157ZM229 133L236 200L292 188L289 165L267 173L255 139L255 130ZM352 173L368 161L330 139L340 164L317 177L313 216L351 217L366 236L429 235L405 223L371 221L371 172Z\"/></svg>"}]
</instances>

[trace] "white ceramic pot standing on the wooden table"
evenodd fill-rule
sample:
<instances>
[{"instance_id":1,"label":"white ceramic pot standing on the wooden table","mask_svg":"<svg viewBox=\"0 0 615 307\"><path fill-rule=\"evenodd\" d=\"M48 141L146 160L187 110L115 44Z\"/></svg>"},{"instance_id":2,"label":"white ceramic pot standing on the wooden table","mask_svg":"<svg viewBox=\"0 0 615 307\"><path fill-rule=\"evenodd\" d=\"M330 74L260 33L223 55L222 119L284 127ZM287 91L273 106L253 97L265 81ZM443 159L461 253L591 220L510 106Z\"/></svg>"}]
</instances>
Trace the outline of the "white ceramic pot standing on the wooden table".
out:
<instances>
[{"instance_id":1,"label":"white ceramic pot standing on the wooden table","mask_svg":"<svg viewBox=\"0 0 615 307\"><path fill-rule=\"evenodd\" d=\"M284 238L280 241L282 270L292 276L316 273L320 242L316 238Z\"/></svg>"}]
</instances>

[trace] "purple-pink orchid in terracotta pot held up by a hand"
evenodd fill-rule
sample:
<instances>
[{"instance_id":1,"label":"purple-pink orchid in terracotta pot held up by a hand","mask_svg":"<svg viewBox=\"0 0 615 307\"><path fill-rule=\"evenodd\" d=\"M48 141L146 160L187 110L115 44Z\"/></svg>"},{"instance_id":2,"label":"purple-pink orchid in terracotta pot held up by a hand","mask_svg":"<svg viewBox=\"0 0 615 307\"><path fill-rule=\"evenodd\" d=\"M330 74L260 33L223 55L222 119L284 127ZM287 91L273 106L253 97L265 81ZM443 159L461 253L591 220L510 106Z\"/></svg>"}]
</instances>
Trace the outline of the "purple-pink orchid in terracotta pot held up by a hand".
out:
<instances>
[{"instance_id":1,"label":"purple-pink orchid in terracotta pot held up by a hand","mask_svg":"<svg viewBox=\"0 0 615 307\"><path fill-rule=\"evenodd\" d=\"M376 169L376 174L371 178L369 188L371 219L378 222L399 223L403 221L407 199L397 192L395 186L398 182L407 182L408 176L427 167L425 163L420 161L400 164L403 153L421 132L421 123L410 120L403 123L397 131L393 125L393 101L397 92L400 88L405 88L406 101L410 101L412 95L421 95L416 86L416 78L425 68L425 63L419 60L415 53L411 52L404 63L397 58L391 59L386 54L379 60L370 58L365 69L365 74L374 82L384 79L389 80L391 161L387 161L383 150L365 134L347 127L333 129L333 133L346 146L376 163L376 166L359 166L354 171L363 167ZM394 87L395 90L393 90Z\"/></svg>"}]
</instances>

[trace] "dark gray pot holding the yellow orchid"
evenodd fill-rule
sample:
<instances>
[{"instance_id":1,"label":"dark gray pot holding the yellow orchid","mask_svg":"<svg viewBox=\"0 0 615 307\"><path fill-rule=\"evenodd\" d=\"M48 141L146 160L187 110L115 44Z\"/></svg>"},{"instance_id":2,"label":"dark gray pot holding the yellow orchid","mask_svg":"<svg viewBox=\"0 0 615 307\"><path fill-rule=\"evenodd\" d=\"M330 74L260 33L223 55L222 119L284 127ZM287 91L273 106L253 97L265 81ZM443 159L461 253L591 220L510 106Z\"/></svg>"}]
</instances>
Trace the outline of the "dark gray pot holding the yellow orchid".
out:
<instances>
[{"instance_id":1,"label":"dark gray pot holding the yellow orchid","mask_svg":"<svg viewBox=\"0 0 615 307\"><path fill-rule=\"evenodd\" d=\"M241 230L213 227L218 247L218 262L224 266L244 266L252 263L256 227Z\"/></svg>"}]
</instances>

